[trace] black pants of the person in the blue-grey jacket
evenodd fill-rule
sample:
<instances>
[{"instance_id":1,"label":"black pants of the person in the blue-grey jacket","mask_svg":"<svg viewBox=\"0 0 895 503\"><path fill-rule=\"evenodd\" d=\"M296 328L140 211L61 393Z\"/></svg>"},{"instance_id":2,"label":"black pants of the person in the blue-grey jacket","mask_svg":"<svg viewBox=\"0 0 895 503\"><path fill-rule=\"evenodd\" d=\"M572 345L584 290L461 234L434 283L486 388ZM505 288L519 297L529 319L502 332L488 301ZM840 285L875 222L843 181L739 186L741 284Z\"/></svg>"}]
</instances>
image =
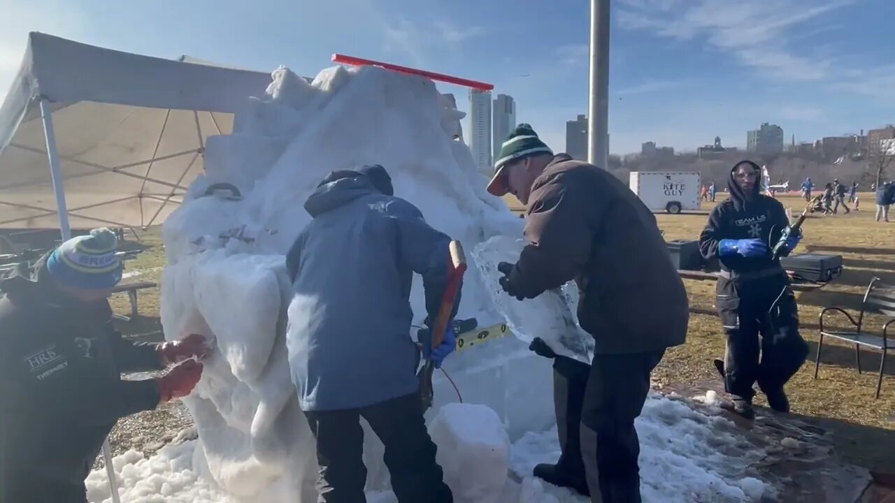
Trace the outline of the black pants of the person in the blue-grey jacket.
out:
<instances>
[{"instance_id":1,"label":"black pants of the person in the blue-grey jacket","mask_svg":"<svg viewBox=\"0 0 895 503\"><path fill-rule=\"evenodd\" d=\"M435 443L422 417L419 393L360 409L306 412L317 438L319 503L364 503L363 416L385 445L385 463L400 503L451 503L450 489L435 462Z\"/></svg>"}]
</instances>

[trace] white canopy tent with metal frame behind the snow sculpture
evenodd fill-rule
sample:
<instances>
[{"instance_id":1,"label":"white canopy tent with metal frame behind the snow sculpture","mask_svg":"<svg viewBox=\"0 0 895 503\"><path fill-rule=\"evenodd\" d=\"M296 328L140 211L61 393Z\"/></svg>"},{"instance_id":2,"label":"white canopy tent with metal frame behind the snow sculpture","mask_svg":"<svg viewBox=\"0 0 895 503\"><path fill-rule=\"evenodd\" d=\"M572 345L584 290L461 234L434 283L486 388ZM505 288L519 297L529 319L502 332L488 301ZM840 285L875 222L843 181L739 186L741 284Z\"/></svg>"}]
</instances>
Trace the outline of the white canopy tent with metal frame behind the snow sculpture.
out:
<instances>
[{"instance_id":1,"label":"white canopy tent with metal frame behind the snow sculpture","mask_svg":"<svg viewBox=\"0 0 895 503\"><path fill-rule=\"evenodd\" d=\"M144 227L270 76L31 33L0 106L0 228Z\"/></svg>"}]
</instances>

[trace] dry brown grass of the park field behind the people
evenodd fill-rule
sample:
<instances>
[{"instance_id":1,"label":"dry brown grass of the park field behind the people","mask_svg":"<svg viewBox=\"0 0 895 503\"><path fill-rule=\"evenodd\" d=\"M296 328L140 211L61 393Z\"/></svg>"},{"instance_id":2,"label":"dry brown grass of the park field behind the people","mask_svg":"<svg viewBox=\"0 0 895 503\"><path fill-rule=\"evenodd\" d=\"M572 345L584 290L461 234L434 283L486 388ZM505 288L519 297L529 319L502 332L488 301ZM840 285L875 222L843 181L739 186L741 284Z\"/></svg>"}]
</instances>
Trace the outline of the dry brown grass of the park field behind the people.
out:
<instances>
[{"instance_id":1,"label":"dry brown grass of the park field behind the people","mask_svg":"<svg viewBox=\"0 0 895 503\"><path fill-rule=\"evenodd\" d=\"M811 345L810 362L793 378L788 386L794 413L812 416L814 422L835 432L840 454L870 468L895 472L895 356L887 362L887 376L882 383L882 396L874 400L875 373L879 354L865 350L859 375L852 346L824 342L819 379L814 376L814 354L817 342L817 317L824 306L857 307L870 278L882 277L895 283L895 223L874 223L873 194L862 194L864 210L849 215L831 217L811 216L805 222L805 240L799 251L840 254L846 271L835 283L822 290L798 295L802 334ZM723 194L719 194L723 199ZM795 213L804 203L797 197L782 196L784 205ZM517 201L512 201L519 208ZM711 204L709 205L711 207ZM702 214L659 215L659 223L667 239L693 239L705 225L706 208ZM141 234L146 251L127 262L127 270L149 270L126 281L156 281L160 283L165 254L158 231ZM154 269L154 270L153 270ZM712 310L714 284L686 280L691 304L697 309ZM116 311L130 310L126 295L113 299ZM145 334L160 330L158 322L158 290L141 292L141 317L132 323L122 323L128 334ZM879 323L874 323L879 327ZM712 359L724 352L720 320L711 315L693 314L690 318L686 345L673 348L655 372L660 382L696 385L706 380L719 380ZM761 404L762 398L759 398Z\"/></svg>"}]
</instances>

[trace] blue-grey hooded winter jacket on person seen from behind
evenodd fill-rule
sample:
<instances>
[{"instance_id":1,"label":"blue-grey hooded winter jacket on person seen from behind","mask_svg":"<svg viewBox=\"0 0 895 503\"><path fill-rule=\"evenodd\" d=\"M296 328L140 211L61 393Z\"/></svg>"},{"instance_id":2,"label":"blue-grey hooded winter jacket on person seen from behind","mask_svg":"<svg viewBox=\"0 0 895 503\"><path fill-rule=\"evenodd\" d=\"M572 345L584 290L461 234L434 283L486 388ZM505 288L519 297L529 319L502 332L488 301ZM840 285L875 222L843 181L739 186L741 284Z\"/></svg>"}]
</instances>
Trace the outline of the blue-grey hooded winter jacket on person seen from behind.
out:
<instances>
[{"instance_id":1,"label":"blue-grey hooded winter jacket on person seen from behind","mask_svg":"<svg viewBox=\"0 0 895 503\"><path fill-rule=\"evenodd\" d=\"M450 238L356 173L321 184L304 208L313 220L286 256L294 289L286 345L302 409L354 409L415 392L413 272L434 320Z\"/></svg>"}]
</instances>

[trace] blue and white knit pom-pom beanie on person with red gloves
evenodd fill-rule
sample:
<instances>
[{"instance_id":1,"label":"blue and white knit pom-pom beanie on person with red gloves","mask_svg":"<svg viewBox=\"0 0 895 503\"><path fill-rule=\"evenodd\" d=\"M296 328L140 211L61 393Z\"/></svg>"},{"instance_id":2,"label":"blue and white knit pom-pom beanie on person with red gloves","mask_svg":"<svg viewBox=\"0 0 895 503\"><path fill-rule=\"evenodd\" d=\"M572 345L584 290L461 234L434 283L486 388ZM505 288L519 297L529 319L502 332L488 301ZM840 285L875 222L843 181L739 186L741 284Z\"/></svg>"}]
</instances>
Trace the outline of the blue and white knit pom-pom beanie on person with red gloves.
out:
<instances>
[{"instance_id":1,"label":"blue and white knit pom-pom beanie on person with red gloves","mask_svg":"<svg viewBox=\"0 0 895 503\"><path fill-rule=\"evenodd\" d=\"M107 228L72 237L47 259L50 277L62 286L81 290L107 290L121 281L122 263L115 256L118 239Z\"/></svg>"}]
</instances>

